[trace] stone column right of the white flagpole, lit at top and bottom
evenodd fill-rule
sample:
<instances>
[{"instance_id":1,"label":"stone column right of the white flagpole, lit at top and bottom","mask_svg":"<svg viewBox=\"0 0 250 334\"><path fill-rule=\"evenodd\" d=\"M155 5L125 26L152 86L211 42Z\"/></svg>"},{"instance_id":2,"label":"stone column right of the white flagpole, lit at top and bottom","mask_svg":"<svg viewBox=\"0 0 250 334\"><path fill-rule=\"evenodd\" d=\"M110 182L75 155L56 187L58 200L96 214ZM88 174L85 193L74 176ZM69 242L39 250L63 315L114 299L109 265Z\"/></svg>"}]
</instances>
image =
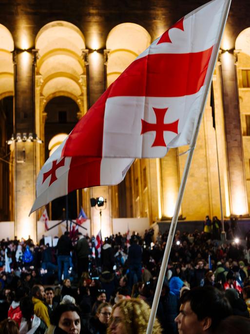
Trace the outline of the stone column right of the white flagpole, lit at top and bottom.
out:
<instances>
[{"instance_id":1,"label":"stone column right of the white flagpole, lit at top and bottom","mask_svg":"<svg viewBox=\"0 0 250 334\"><path fill-rule=\"evenodd\" d=\"M249 211L234 56L229 52L222 53L220 61L231 214L247 215Z\"/></svg>"}]
</instances>

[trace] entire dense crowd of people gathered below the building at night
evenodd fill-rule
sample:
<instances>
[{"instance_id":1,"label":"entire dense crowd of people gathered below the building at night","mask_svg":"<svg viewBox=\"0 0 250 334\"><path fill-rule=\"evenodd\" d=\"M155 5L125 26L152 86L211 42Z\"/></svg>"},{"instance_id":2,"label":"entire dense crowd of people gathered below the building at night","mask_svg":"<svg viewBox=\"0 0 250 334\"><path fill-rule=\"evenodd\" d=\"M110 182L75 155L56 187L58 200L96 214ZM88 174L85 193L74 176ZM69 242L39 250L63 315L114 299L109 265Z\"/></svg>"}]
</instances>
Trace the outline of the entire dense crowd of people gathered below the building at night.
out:
<instances>
[{"instance_id":1,"label":"entire dense crowd of people gathered below the building at night","mask_svg":"<svg viewBox=\"0 0 250 334\"><path fill-rule=\"evenodd\" d=\"M144 334L168 232L0 242L0 334ZM250 333L247 246L177 231L153 333Z\"/></svg>"}]
</instances>

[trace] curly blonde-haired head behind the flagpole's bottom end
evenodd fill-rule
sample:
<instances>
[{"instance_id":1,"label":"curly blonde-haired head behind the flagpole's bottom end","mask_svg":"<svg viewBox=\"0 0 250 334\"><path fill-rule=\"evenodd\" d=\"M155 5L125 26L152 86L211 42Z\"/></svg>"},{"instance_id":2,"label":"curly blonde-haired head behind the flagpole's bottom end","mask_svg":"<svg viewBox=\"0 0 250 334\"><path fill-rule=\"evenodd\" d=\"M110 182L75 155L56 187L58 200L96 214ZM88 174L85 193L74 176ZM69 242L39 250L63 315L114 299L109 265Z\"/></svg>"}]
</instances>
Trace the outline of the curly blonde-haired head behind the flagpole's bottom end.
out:
<instances>
[{"instance_id":1,"label":"curly blonde-haired head behind the flagpole's bottom end","mask_svg":"<svg viewBox=\"0 0 250 334\"><path fill-rule=\"evenodd\" d=\"M107 334L145 334L150 311L144 300L137 298L121 300L113 307ZM152 333L162 333L157 319L154 321Z\"/></svg>"}]
</instances>

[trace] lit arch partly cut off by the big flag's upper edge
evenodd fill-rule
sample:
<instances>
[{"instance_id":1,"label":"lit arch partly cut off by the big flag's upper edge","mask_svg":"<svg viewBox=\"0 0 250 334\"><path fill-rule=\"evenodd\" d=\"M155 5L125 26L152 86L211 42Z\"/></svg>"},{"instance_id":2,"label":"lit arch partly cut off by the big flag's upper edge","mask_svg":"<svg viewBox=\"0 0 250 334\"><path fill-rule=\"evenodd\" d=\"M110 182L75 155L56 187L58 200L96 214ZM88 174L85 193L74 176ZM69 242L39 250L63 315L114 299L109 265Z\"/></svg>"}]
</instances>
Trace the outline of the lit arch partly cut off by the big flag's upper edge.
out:
<instances>
[{"instance_id":1,"label":"lit arch partly cut off by the big flag's upper edge","mask_svg":"<svg viewBox=\"0 0 250 334\"><path fill-rule=\"evenodd\" d=\"M107 85L128 67L151 42L146 29L135 23L116 25L108 34L106 48L110 51L107 62Z\"/></svg>"}]
</instances>

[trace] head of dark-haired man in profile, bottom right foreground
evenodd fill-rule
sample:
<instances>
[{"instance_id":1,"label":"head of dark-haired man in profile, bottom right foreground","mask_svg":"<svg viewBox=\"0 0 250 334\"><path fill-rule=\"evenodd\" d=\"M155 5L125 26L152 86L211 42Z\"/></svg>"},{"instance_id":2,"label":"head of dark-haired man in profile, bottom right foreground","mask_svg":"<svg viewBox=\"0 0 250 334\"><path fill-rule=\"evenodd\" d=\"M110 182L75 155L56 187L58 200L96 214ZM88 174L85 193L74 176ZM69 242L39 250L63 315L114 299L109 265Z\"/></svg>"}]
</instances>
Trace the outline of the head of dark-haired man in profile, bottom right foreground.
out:
<instances>
[{"instance_id":1,"label":"head of dark-haired man in profile, bottom right foreground","mask_svg":"<svg viewBox=\"0 0 250 334\"><path fill-rule=\"evenodd\" d=\"M180 313L175 318L180 334L210 333L232 314L228 299L212 286L193 288L182 295L180 302Z\"/></svg>"}]
</instances>

